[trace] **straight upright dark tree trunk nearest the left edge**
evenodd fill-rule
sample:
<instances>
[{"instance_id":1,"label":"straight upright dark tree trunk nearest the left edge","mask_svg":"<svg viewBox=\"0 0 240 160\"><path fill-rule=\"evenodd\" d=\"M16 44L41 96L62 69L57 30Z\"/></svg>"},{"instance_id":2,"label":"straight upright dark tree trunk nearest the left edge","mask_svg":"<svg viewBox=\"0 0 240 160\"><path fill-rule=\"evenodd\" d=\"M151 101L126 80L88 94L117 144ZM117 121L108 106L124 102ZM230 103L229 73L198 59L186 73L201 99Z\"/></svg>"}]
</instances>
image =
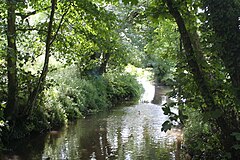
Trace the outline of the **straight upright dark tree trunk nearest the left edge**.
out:
<instances>
[{"instance_id":1,"label":"straight upright dark tree trunk nearest the left edge","mask_svg":"<svg viewBox=\"0 0 240 160\"><path fill-rule=\"evenodd\" d=\"M8 97L7 107L4 110L6 120L16 118L17 104L17 47L16 47L16 2L14 0L7 1L7 75L8 75Z\"/></svg>"}]
</instances>

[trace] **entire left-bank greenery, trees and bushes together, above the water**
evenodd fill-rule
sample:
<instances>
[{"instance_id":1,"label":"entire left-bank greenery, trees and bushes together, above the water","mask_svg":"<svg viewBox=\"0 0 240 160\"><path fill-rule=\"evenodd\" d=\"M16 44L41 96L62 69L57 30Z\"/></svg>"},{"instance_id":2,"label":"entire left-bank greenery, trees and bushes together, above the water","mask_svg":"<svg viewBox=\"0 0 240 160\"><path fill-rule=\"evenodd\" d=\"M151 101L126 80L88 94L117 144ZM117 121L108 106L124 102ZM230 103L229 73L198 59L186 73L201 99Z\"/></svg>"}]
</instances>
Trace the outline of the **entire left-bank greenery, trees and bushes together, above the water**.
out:
<instances>
[{"instance_id":1,"label":"entire left-bank greenery, trees and bushes together, above the water","mask_svg":"<svg viewBox=\"0 0 240 160\"><path fill-rule=\"evenodd\" d=\"M124 69L131 57L111 7L101 1L1 3L1 142L140 97L136 76Z\"/></svg>"}]
</instances>

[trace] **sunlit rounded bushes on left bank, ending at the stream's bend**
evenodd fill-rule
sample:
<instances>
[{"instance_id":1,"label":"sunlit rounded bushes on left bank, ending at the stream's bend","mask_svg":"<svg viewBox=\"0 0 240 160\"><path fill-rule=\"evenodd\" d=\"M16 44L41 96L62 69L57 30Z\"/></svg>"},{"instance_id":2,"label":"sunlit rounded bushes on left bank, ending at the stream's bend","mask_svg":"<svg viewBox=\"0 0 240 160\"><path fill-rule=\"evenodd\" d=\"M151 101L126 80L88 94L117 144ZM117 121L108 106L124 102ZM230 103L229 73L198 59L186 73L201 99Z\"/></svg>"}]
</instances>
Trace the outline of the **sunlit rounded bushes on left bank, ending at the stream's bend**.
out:
<instances>
[{"instance_id":1,"label":"sunlit rounded bushes on left bank, ending at the stream's bend","mask_svg":"<svg viewBox=\"0 0 240 160\"><path fill-rule=\"evenodd\" d=\"M59 84L55 87L59 101L68 119L76 119L101 110L117 102L137 100L141 86L130 74L105 74L80 78L74 67L54 74ZM51 97L51 96L50 96Z\"/></svg>"}]
</instances>

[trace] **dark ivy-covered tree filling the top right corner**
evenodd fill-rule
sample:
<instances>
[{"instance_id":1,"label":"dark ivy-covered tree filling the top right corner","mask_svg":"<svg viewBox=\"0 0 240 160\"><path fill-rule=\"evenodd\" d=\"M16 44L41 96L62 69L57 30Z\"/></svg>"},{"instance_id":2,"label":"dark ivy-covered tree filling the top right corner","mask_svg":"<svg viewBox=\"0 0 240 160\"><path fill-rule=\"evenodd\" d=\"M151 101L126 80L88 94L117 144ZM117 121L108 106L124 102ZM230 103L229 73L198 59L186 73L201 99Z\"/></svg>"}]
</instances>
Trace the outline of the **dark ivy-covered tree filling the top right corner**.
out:
<instances>
[{"instance_id":1,"label":"dark ivy-covered tree filling the top right corner","mask_svg":"<svg viewBox=\"0 0 240 160\"><path fill-rule=\"evenodd\" d=\"M204 0L209 29L214 31L214 45L232 81L232 89L240 102L240 4L237 0Z\"/></svg>"}]
</instances>

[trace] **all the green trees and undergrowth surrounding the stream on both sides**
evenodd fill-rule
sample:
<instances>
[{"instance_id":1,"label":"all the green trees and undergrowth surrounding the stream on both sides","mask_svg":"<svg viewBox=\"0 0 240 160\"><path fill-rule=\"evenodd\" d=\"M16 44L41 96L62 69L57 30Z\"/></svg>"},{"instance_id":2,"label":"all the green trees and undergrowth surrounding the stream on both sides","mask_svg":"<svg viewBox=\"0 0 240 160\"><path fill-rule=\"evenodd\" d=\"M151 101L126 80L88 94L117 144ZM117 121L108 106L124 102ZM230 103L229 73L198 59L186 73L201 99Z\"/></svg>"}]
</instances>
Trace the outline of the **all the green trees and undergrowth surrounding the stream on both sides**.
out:
<instances>
[{"instance_id":1,"label":"all the green trees and undergrowth surrounding the stream on both sides","mask_svg":"<svg viewBox=\"0 0 240 160\"><path fill-rule=\"evenodd\" d=\"M132 76L116 74L130 63L172 86L163 130L179 122L186 152L239 159L238 0L3 2L0 117L8 135L138 97Z\"/></svg>"}]
</instances>

